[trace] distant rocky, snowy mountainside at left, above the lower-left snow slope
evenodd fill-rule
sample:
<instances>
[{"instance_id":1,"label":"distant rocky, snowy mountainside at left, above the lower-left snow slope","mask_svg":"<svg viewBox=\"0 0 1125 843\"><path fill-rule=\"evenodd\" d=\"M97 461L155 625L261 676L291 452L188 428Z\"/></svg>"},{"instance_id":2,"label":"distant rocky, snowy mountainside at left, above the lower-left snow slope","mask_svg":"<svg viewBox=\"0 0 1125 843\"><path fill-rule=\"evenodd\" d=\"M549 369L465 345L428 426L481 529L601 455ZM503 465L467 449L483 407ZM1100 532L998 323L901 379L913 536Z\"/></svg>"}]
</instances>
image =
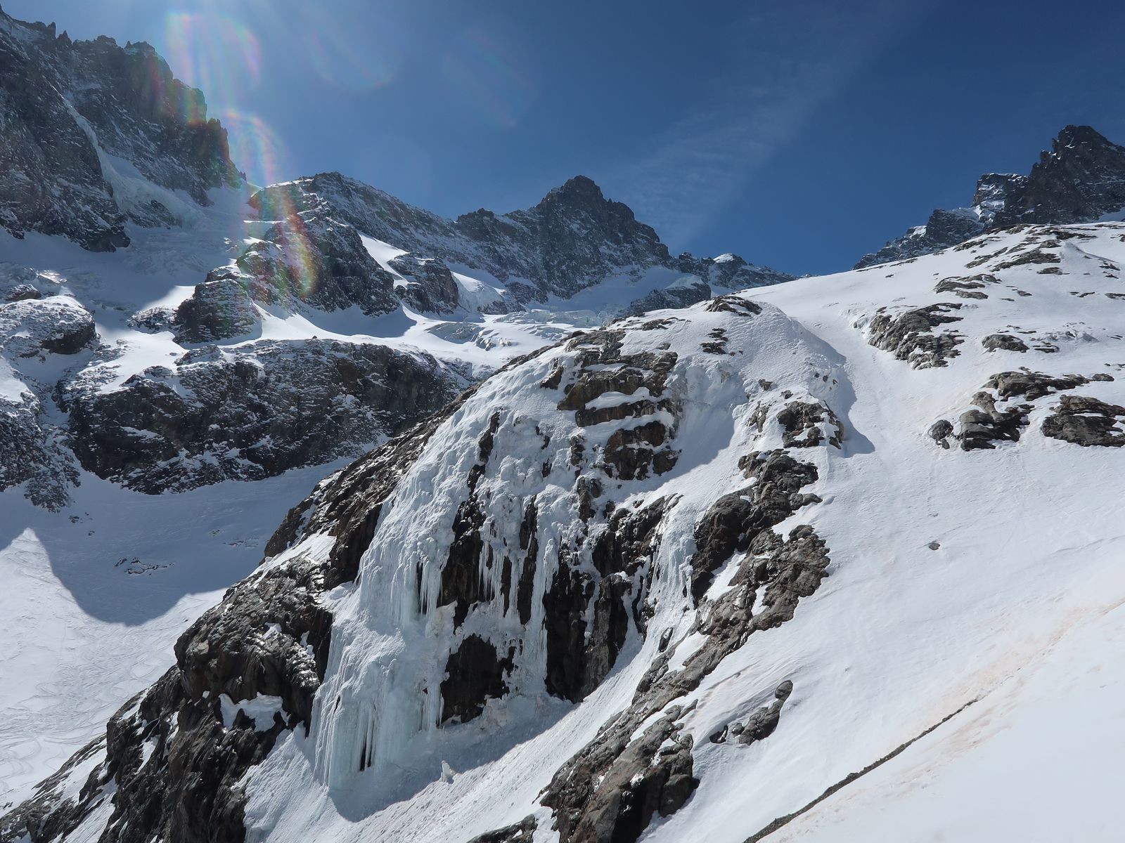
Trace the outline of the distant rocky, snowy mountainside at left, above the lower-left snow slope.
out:
<instances>
[{"instance_id":1,"label":"distant rocky, snowy mountainside at left, above the lower-left snow slope","mask_svg":"<svg viewBox=\"0 0 1125 843\"><path fill-rule=\"evenodd\" d=\"M40 506L354 456L573 327L792 278L672 259L580 176L456 221L339 174L251 190L151 46L0 16L0 489Z\"/></svg>"}]
</instances>

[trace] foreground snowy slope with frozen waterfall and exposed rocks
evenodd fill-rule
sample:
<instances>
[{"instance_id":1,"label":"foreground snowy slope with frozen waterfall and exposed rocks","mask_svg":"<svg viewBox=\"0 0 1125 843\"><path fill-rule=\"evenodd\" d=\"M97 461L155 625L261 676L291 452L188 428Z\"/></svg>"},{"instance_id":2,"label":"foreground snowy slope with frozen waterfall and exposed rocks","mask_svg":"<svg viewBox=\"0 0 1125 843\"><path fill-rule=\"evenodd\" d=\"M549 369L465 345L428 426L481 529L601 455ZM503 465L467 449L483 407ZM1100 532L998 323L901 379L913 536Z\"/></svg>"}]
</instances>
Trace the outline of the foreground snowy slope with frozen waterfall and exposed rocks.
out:
<instances>
[{"instance_id":1,"label":"foreground snowy slope with frozen waterfall and exposed rocks","mask_svg":"<svg viewBox=\"0 0 1125 843\"><path fill-rule=\"evenodd\" d=\"M1108 839L1122 261L1017 226L511 361L0 839Z\"/></svg>"}]
</instances>

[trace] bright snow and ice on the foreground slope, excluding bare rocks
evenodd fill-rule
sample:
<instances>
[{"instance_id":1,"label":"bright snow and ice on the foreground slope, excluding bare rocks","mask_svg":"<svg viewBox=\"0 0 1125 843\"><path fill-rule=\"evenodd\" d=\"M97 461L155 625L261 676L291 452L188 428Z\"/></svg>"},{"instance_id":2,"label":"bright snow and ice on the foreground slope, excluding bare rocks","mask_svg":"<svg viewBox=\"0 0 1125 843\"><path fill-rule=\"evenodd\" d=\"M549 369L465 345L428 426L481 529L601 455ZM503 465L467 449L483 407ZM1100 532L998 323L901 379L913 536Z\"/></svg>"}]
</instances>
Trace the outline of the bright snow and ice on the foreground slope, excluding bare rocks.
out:
<instances>
[{"instance_id":1,"label":"bright snow and ice on the foreground slope, excluding bare rocks","mask_svg":"<svg viewBox=\"0 0 1125 843\"><path fill-rule=\"evenodd\" d=\"M1066 238L1051 245L1059 232ZM1059 263L998 269L1034 247ZM556 409L557 392L539 387L573 352L556 348L494 377L393 492L359 584L331 596L332 653L312 732L288 734L248 774L250 839L453 842L536 814L536 841L556 840L538 804L554 772L629 705L663 632L686 647L700 644L683 590L692 529L718 495L745 484L739 456L780 445L776 423L759 434L747 422L757 401L778 400L781 389L824 400L844 426L842 448L794 452L817 465L810 490L822 502L776 528L811 524L827 542L829 575L792 620L752 635L678 700L696 704L681 722L694 737L701 783L644 839L741 843L932 728L767 840L1115 839L1113 798L1125 783L1125 448L1045 437L1053 396L1034 401L1018 442L994 450L943 450L927 429L956 420L990 375L1020 366L1110 374L1072 393L1125 404L1125 299L1107 296L1125 293L1123 261L1125 225L1028 228L756 290L746 294L763 306L753 318L705 306L648 315L672 324L631 330L624 351L667 343L680 354L669 389L684 407L681 455L668 474L610 492L619 506L678 496L652 563L647 636L633 631L603 685L569 705L543 692L541 640L521 637L498 605L470 613L461 635L519 638L519 692L489 701L475 720L439 727L438 685L454 636L451 609L428 596L494 413L496 456L480 480L487 515L503 536L519 519L513 501L538 495L540 528L548 525L537 611L551 547L576 520L565 493L573 473L559 453L573 417ZM934 292L942 279L981 272L998 279L987 299ZM880 308L939 301L962 305L961 320L939 328L964 339L947 366L916 370L867 343ZM717 328L727 332L730 355L700 351ZM986 352L981 338L1005 330L1058 352ZM550 435L547 478L532 426ZM603 441L596 427L584 433L587 446ZM720 572L712 590L722 582ZM794 691L773 735L749 747L709 742L785 679ZM459 772L443 774L450 769Z\"/></svg>"}]
</instances>

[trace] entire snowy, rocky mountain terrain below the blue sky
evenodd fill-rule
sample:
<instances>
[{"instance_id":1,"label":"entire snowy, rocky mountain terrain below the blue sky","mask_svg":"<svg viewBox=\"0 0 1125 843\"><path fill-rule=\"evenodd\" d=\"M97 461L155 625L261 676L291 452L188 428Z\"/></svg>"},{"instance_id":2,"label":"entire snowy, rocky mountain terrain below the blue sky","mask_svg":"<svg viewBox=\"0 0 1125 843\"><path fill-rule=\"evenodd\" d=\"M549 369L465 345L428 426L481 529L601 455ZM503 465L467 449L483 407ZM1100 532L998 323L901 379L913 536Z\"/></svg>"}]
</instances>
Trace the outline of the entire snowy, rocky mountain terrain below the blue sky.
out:
<instances>
[{"instance_id":1,"label":"entire snowy, rocky mountain terrain below the blue sky","mask_svg":"<svg viewBox=\"0 0 1125 843\"><path fill-rule=\"evenodd\" d=\"M796 278L2 12L0 126L0 843L1116 839L1125 148Z\"/></svg>"}]
</instances>

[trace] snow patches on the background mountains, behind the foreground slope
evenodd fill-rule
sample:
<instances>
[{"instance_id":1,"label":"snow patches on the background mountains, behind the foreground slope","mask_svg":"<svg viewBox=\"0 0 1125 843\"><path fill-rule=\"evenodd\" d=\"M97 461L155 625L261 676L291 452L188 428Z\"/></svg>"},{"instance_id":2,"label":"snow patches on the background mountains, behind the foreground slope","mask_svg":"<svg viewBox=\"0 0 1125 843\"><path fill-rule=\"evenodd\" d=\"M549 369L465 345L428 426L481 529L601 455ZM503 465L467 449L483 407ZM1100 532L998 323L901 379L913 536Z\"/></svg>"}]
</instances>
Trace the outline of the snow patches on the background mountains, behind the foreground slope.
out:
<instances>
[{"instance_id":1,"label":"snow patches on the background mountains, behind the foreground slope","mask_svg":"<svg viewBox=\"0 0 1125 843\"><path fill-rule=\"evenodd\" d=\"M65 414L35 392L50 396L64 375L111 390L153 365L174 370L190 346L178 344L169 330L137 329L130 318L153 308L174 309L209 270L233 261L262 225L250 218L250 185L213 190L213 205L202 208L182 191L143 179L129 162L98 151L123 207L156 199L180 225L129 224L132 243L115 253L90 253L34 232L17 239L0 230L0 301L7 289L30 283L47 299L32 302L36 312L54 303L58 312L93 316L97 339L73 355L25 359L19 354L28 332L9 332L7 344L0 338L0 346L7 345L0 347L6 352L0 353L0 399L42 405L44 420L61 427ZM370 237L363 242L385 266L403 252ZM654 271L639 282L611 279L585 291L580 302L482 315L477 308L494 301L503 284L472 268L451 269L466 309L449 318L405 307L379 317L358 308L259 308L260 330L217 345L231 352L259 339L335 338L426 351L467 363L483 377L575 328L600 325L636 297L675 280L666 270ZM166 669L179 633L252 570L286 510L333 468L155 498L81 472L71 505L55 514L29 506L19 488L0 493L6 583L0 618L8 622L9 641L0 653L0 807L19 804L35 782L101 732L126 698ZM137 575L128 573L134 559L142 569Z\"/></svg>"}]
</instances>

